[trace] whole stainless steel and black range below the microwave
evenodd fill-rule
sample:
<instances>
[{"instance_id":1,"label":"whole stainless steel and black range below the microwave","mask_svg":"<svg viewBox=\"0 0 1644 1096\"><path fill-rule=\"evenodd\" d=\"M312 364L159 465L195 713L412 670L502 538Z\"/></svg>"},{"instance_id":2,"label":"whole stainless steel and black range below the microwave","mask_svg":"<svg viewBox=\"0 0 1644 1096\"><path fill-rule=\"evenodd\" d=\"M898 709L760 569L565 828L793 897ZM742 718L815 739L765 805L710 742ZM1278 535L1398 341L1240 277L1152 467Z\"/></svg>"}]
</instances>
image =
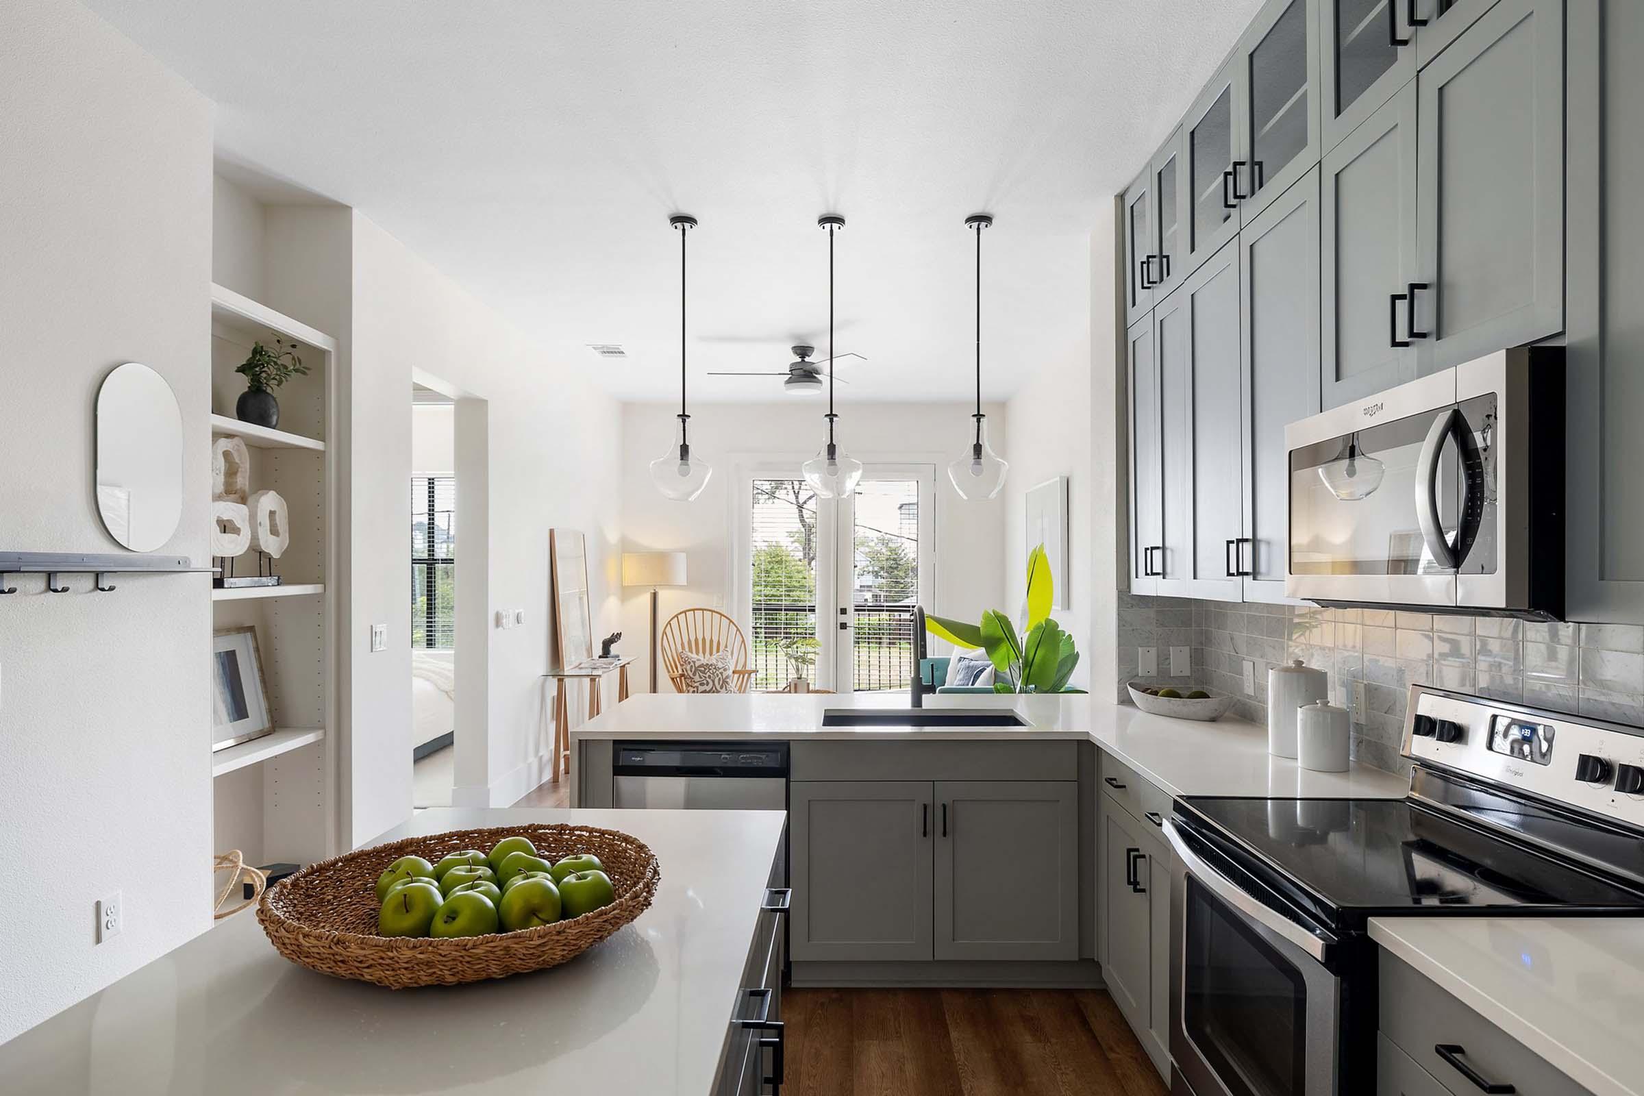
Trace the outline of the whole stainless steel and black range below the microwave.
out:
<instances>
[{"instance_id":1,"label":"whole stainless steel and black range below the microwave","mask_svg":"<svg viewBox=\"0 0 1644 1096\"><path fill-rule=\"evenodd\" d=\"M1404 756L1402 800L1177 804L1175 1091L1376 1091L1371 917L1644 914L1644 730L1417 685Z\"/></svg>"}]
</instances>

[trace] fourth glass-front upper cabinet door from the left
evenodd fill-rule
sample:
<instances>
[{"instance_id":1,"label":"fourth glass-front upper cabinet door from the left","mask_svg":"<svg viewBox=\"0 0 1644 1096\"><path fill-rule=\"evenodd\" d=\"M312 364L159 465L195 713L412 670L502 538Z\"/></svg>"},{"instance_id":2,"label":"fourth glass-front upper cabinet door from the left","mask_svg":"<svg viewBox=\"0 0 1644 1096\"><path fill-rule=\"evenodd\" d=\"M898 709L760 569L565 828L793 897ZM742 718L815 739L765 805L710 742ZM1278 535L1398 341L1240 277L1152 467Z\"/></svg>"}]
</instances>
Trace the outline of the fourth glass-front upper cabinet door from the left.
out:
<instances>
[{"instance_id":1,"label":"fourth glass-front upper cabinet door from the left","mask_svg":"<svg viewBox=\"0 0 1644 1096\"><path fill-rule=\"evenodd\" d=\"M1245 135L1235 176L1249 225L1318 163L1318 0L1268 0L1236 51Z\"/></svg>"}]
</instances>

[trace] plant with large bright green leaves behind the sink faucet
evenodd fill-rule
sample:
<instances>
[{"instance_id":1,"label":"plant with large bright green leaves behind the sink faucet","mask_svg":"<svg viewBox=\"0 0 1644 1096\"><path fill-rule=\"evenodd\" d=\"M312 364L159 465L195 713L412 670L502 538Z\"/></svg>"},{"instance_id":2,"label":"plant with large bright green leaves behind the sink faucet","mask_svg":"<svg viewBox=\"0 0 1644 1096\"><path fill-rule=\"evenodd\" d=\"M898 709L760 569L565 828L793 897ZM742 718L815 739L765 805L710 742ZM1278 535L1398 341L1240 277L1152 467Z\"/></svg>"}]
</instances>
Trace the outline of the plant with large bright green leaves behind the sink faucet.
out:
<instances>
[{"instance_id":1,"label":"plant with large bright green leaves behind the sink faucet","mask_svg":"<svg viewBox=\"0 0 1644 1096\"><path fill-rule=\"evenodd\" d=\"M1001 610L988 610L978 624L926 615L926 631L955 647L986 651L988 661L998 670L993 692L1083 692L1067 687L1074 667L1078 665L1078 647L1051 618L1054 595L1055 578L1051 575L1051 560L1041 544L1028 554L1028 595L1023 598L1021 629Z\"/></svg>"}]
</instances>

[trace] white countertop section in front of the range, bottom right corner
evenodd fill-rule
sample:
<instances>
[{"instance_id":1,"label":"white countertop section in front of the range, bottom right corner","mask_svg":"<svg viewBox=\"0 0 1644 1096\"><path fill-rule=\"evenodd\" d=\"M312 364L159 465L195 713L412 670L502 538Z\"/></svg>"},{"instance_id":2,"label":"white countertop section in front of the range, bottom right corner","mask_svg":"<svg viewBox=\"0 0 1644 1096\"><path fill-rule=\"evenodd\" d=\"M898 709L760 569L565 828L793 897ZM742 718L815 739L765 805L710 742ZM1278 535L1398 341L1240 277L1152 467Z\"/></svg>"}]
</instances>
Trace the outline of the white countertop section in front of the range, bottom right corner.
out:
<instances>
[{"instance_id":1,"label":"white countertop section in front of the range, bottom right corner","mask_svg":"<svg viewBox=\"0 0 1644 1096\"><path fill-rule=\"evenodd\" d=\"M1369 938L1596 1096L1644 1096L1634 917L1374 917Z\"/></svg>"}]
</instances>

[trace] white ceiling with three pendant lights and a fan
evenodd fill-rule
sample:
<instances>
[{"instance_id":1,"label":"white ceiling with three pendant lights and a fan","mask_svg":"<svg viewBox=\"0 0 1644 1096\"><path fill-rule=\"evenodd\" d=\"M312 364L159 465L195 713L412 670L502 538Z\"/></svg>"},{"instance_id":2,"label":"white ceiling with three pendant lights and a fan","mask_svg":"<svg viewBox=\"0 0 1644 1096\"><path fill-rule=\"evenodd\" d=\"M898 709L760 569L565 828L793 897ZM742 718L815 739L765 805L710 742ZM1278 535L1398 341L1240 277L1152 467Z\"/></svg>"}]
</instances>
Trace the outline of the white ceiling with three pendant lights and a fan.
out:
<instances>
[{"instance_id":1,"label":"white ceiling with three pendant lights and a fan","mask_svg":"<svg viewBox=\"0 0 1644 1096\"><path fill-rule=\"evenodd\" d=\"M1259 0L87 0L219 104L219 156L357 207L623 399L965 399L1088 340L1088 232ZM592 342L621 343L603 361Z\"/></svg>"}]
</instances>

